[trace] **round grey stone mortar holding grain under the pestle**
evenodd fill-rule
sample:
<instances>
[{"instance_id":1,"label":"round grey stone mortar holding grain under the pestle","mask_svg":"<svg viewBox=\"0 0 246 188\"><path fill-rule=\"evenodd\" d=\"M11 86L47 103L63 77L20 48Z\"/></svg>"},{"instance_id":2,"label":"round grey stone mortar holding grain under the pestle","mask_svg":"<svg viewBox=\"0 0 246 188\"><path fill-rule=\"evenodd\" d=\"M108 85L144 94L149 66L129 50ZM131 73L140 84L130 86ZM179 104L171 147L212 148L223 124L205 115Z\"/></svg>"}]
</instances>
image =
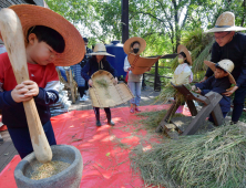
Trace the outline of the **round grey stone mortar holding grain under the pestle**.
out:
<instances>
[{"instance_id":1,"label":"round grey stone mortar holding grain under the pestle","mask_svg":"<svg viewBox=\"0 0 246 188\"><path fill-rule=\"evenodd\" d=\"M71 164L66 169L49 178L33 180L29 175L33 166L39 163L34 153L24 157L14 169L14 179L18 188L79 188L83 171L83 159L80 150L73 146L51 146L52 160Z\"/></svg>"}]
</instances>

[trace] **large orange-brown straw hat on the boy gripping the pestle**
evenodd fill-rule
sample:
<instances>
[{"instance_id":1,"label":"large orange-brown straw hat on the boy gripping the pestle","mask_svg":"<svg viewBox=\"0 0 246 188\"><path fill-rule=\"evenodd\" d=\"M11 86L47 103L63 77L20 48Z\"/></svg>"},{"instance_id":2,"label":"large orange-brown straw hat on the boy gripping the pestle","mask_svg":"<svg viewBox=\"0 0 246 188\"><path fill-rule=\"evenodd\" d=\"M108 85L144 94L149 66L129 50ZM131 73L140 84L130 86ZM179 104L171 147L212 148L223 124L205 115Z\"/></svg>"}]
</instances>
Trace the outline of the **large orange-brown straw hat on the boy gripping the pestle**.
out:
<instances>
[{"instance_id":1,"label":"large orange-brown straw hat on the boy gripping the pestle","mask_svg":"<svg viewBox=\"0 0 246 188\"><path fill-rule=\"evenodd\" d=\"M9 8L17 13L21 21L25 45L30 28L34 25L48 27L59 32L65 42L64 52L59 53L54 65L69 66L82 61L85 52L83 38L75 27L62 15L40 6L18 4Z\"/></svg>"}]
</instances>

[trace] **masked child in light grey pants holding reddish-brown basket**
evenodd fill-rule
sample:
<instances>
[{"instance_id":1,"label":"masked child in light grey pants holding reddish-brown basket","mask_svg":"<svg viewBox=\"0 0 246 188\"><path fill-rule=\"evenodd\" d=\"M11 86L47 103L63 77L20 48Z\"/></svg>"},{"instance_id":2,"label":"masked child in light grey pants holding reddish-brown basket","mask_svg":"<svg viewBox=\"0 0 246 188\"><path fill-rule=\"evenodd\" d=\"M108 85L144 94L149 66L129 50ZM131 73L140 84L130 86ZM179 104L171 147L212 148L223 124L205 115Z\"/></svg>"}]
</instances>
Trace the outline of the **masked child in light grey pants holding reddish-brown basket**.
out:
<instances>
[{"instance_id":1,"label":"masked child in light grey pants holding reddish-brown basket","mask_svg":"<svg viewBox=\"0 0 246 188\"><path fill-rule=\"evenodd\" d=\"M134 36L130 38L127 41L124 43L124 52L126 54L129 53L134 53L134 54L140 54L144 51L146 48L146 42L144 39ZM141 112L139 108L140 106L140 100L141 100L141 87L142 87L142 80L143 80L143 74L133 74L132 73L132 67L129 63L127 56L125 58L124 61L124 71L127 72L129 79L127 79L127 85L134 95L134 97L130 101L131 103L131 109L130 113Z\"/></svg>"}]
</instances>

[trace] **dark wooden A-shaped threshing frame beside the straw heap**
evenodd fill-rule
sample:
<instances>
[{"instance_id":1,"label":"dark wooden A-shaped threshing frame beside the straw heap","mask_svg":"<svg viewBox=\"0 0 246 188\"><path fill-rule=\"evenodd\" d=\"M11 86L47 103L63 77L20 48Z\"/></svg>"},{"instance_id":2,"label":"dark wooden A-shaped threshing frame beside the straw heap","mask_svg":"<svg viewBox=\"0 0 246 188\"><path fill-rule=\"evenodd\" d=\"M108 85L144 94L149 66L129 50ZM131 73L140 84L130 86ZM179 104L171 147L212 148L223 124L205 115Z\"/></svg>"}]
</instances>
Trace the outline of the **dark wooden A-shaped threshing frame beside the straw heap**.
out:
<instances>
[{"instance_id":1,"label":"dark wooden A-shaped threshing frame beside the straw heap","mask_svg":"<svg viewBox=\"0 0 246 188\"><path fill-rule=\"evenodd\" d=\"M212 116L214 118L214 123L216 126L222 125L224 123L224 116L222 114L222 109L219 106L219 101L222 100L222 95L215 92L209 92L205 96L191 93L184 85L173 85L181 94L185 96L185 101L187 103L187 106L189 108L189 112L192 116L195 116L193 118L192 123L188 125L188 127L182 132L176 127L178 133L182 135L193 135L197 132L199 126L203 124L203 122L206 119L206 117L212 113ZM202 109L197 113L197 109L194 105L193 101L197 101L204 104ZM176 109L180 107L176 101L173 102L172 106L167 111L166 115L163 117L162 122L160 123L158 127L156 128L156 132L161 132L162 129L166 129L165 125L168 124L168 122L172 123L172 116L175 114ZM171 121L170 121L171 119Z\"/></svg>"}]
</instances>

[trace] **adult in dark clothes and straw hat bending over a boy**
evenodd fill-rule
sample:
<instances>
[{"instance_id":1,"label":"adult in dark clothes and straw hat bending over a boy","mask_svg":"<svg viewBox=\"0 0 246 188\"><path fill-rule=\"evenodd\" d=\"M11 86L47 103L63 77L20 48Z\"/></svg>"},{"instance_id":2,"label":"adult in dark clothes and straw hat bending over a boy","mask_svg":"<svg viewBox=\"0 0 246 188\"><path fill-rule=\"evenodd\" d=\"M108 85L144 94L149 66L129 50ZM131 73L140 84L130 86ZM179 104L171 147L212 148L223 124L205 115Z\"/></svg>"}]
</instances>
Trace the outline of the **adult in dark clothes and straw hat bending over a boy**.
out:
<instances>
[{"instance_id":1,"label":"adult in dark clothes and straw hat bending over a boy","mask_svg":"<svg viewBox=\"0 0 246 188\"><path fill-rule=\"evenodd\" d=\"M223 93L226 96L230 96L235 92L232 124L238 122L246 96L246 35L235 32L243 30L246 30L246 28L235 27L235 15L233 12L224 12L218 17L215 28L206 31L214 32L215 38L211 61L217 63L221 60L228 59L235 65L232 75L235 77L236 84L232 90ZM212 75L213 71L208 69L203 81Z\"/></svg>"}]
</instances>

